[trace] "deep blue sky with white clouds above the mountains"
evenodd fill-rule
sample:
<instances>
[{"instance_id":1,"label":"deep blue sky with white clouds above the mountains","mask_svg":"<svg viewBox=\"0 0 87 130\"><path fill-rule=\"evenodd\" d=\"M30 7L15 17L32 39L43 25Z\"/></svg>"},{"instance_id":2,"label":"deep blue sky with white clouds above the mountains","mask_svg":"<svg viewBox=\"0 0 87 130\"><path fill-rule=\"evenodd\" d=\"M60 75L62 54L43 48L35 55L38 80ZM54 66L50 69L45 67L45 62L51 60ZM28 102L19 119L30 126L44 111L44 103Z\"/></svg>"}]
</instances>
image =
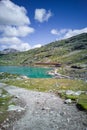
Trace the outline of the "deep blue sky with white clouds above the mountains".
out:
<instances>
[{"instance_id":1,"label":"deep blue sky with white clouds above the mountains","mask_svg":"<svg viewBox=\"0 0 87 130\"><path fill-rule=\"evenodd\" d=\"M87 32L87 0L1 0L0 50L29 50Z\"/></svg>"}]
</instances>

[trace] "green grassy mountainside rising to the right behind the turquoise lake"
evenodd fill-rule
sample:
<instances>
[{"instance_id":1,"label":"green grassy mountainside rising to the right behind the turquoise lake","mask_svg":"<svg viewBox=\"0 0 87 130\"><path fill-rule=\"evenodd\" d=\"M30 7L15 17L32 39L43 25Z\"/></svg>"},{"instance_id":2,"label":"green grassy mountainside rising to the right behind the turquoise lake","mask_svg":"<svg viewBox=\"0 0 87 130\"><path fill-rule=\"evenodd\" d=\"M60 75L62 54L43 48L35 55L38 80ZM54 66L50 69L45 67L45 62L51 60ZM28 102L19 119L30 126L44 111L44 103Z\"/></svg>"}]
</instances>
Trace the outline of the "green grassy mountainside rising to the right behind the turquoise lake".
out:
<instances>
[{"instance_id":1,"label":"green grassy mountainside rising to the right behind the turquoise lake","mask_svg":"<svg viewBox=\"0 0 87 130\"><path fill-rule=\"evenodd\" d=\"M14 50L8 49L7 52L14 52ZM87 65L87 33L26 52L0 54L0 65L34 65L37 62Z\"/></svg>"}]
</instances>

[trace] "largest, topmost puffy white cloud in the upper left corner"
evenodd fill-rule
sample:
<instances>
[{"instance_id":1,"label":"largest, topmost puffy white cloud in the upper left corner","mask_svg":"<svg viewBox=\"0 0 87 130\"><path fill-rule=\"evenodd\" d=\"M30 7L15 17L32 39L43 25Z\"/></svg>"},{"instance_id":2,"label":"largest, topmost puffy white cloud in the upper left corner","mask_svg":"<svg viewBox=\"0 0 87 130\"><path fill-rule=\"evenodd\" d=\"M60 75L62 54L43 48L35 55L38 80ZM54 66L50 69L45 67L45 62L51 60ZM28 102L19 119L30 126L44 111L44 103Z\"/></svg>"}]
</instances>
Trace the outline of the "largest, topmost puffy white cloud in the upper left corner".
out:
<instances>
[{"instance_id":1,"label":"largest, topmost puffy white cloud in the upper left corner","mask_svg":"<svg viewBox=\"0 0 87 130\"><path fill-rule=\"evenodd\" d=\"M10 0L0 1L0 24L1 25L25 25L30 24L27 11Z\"/></svg>"}]
</instances>

